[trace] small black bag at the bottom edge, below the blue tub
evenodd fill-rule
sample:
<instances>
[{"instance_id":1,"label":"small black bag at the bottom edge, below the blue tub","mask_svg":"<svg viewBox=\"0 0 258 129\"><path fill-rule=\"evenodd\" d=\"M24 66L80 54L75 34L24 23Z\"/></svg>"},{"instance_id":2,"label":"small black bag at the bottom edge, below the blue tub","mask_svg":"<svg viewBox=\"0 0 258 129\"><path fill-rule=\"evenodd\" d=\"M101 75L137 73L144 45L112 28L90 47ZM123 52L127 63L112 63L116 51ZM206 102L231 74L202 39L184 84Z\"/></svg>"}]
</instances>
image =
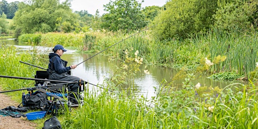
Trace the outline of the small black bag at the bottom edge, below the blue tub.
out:
<instances>
[{"instance_id":1,"label":"small black bag at the bottom edge, below the blue tub","mask_svg":"<svg viewBox=\"0 0 258 129\"><path fill-rule=\"evenodd\" d=\"M60 129L60 128L62 128L61 123L55 116L51 117L50 119L47 119L44 122L44 127L42 127L42 129Z\"/></svg>"}]
</instances>

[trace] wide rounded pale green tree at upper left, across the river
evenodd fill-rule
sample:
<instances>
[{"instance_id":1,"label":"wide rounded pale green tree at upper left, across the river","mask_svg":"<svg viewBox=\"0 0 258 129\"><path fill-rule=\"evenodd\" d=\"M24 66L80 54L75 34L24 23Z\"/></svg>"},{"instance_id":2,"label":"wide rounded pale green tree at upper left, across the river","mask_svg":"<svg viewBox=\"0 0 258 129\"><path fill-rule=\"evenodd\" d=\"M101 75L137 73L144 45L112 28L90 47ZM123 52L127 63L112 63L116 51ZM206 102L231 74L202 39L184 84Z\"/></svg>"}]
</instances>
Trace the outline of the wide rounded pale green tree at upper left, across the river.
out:
<instances>
[{"instance_id":1,"label":"wide rounded pale green tree at upper left, across the river","mask_svg":"<svg viewBox=\"0 0 258 129\"><path fill-rule=\"evenodd\" d=\"M14 17L16 32L46 33L60 31L62 26L65 26L66 31L70 32L77 25L78 19L70 6L69 0L61 4L59 0L29 0L26 3L22 2L19 4L19 10ZM68 23L72 27L68 27Z\"/></svg>"}]
</instances>

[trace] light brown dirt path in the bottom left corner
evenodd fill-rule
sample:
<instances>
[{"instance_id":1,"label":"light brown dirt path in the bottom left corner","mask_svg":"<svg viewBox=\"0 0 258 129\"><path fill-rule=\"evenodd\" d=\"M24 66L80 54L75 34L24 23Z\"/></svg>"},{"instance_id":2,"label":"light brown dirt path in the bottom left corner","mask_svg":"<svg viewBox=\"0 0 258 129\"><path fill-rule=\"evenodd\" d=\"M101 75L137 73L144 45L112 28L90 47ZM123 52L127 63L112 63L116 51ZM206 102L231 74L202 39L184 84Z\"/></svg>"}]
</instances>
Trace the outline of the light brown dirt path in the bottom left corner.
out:
<instances>
[{"instance_id":1,"label":"light brown dirt path in the bottom left corner","mask_svg":"<svg viewBox=\"0 0 258 129\"><path fill-rule=\"evenodd\" d=\"M1 89L0 89L1 91ZM8 106L18 106L16 103L10 99L5 94L0 94L0 109L6 108ZM16 128L26 128L33 129L36 128L36 123L27 120L26 117L13 118L11 116L0 115L0 129L16 129Z\"/></svg>"}]
</instances>

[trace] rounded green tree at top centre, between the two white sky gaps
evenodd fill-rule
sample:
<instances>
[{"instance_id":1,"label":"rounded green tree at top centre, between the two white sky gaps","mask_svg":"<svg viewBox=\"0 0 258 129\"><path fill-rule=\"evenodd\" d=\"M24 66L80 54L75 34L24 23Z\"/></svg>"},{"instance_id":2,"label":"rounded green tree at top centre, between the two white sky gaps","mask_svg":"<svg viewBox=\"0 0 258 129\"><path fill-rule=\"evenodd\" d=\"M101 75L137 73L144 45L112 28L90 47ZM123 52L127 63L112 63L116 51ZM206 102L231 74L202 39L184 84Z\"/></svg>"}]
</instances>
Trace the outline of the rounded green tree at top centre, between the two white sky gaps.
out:
<instances>
[{"instance_id":1,"label":"rounded green tree at top centre, between the two white sky gaps","mask_svg":"<svg viewBox=\"0 0 258 129\"><path fill-rule=\"evenodd\" d=\"M143 1L142 1L143 2ZM141 11L142 3L136 0L115 0L104 5L102 27L108 30L137 30L147 25Z\"/></svg>"}]
</instances>

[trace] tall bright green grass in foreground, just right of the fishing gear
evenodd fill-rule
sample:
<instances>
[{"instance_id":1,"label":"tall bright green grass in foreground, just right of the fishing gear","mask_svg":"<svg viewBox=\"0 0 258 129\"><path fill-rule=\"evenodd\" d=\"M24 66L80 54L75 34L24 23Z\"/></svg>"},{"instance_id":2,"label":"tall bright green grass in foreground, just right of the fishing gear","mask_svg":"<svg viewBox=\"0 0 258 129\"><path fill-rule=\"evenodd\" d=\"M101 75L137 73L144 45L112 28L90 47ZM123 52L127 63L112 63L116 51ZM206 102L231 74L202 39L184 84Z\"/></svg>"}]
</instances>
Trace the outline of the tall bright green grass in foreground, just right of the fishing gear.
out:
<instances>
[{"instance_id":1,"label":"tall bright green grass in foreground, just right of the fishing gear","mask_svg":"<svg viewBox=\"0 0 258 129\"><path fill-rule=\"evenodd\" d=\"M85 104L64 118L66 128L153 128L153 112L148 112L144 101L140 104L125 97L112 95L107 90L100 94L86 94Z\"/></svg>"}]
</instances>

